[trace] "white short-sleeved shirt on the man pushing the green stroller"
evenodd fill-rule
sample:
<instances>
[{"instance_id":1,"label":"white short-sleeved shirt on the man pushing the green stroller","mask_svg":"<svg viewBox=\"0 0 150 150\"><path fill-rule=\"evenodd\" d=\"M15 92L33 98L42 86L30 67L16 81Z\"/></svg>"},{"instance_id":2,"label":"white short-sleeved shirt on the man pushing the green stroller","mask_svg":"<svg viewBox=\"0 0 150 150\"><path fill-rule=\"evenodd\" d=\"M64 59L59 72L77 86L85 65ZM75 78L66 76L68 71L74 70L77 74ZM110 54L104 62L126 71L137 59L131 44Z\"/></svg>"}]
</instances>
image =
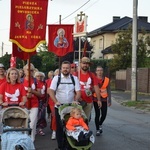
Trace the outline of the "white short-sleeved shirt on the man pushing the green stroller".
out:
<instances>
[{"instance_id":1,"label":"white short-sleeved shirt on the man pushing the green stroller","mask_svg":"<svg viewBox=\"0 0 150 150\"><path fill-rule=\"evenodd\" d=\"M72 101L74 101L75 91L80 91L80 83L78 77L73 76L73 78L75 81L75 85L73 84L70 75L68 77L64 77L62 73L58 88L57 88L58 75L55 76L51 82L50 89L56 91L56 99L61 104L72 103Z\"/></svg>"}]
</instances>

